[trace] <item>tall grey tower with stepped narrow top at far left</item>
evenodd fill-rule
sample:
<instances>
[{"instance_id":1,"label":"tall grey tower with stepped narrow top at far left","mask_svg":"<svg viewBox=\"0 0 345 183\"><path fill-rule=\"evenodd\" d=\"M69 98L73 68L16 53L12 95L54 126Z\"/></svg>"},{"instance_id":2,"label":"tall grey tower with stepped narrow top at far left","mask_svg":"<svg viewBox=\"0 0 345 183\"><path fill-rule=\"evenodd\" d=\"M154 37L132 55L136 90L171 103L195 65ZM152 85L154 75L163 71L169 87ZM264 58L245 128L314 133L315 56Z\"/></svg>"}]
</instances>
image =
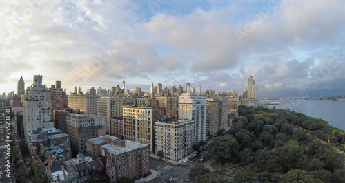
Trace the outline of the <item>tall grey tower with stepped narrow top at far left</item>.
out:
<instances>
[{"instance_id":1,"label":"tall grey tower with stepped narrow top at far left","mask_svg":"<svg viewBox=\"0 0 345 183\"><path fill-rule=\"evenodd\" d=\"M53 127L50 119L50 92L42 85L42 76L34 75L34 83L23 95L24 133L28 140L29 131L41 131L43 128ZM27 141L28 142L28 141Z\"/></svg>"}]
</instances>

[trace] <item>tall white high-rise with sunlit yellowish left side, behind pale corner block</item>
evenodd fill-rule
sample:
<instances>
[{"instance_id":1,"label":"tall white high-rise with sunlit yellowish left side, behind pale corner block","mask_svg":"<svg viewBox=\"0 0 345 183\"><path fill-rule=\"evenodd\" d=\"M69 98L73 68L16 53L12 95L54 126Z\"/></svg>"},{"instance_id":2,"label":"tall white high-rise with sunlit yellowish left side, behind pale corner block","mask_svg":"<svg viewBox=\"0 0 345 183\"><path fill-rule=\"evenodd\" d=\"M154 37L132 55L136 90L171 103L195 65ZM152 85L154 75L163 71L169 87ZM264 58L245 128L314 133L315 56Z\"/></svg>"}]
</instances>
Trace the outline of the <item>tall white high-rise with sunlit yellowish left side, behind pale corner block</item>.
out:
<instances>
[{"instance_id":1,"label":"tall white high-rise with sunlit yellowish left side, behind pale corner block","mask_svg":"<svg viewBox=\"0 0 345 183\"><path fill-rule=\"evenodd\" d=\"M195 143L206 140L206 96L197 93L184 93L179 97L179 119L194 120Z\"/></svg>"}]
</instances>

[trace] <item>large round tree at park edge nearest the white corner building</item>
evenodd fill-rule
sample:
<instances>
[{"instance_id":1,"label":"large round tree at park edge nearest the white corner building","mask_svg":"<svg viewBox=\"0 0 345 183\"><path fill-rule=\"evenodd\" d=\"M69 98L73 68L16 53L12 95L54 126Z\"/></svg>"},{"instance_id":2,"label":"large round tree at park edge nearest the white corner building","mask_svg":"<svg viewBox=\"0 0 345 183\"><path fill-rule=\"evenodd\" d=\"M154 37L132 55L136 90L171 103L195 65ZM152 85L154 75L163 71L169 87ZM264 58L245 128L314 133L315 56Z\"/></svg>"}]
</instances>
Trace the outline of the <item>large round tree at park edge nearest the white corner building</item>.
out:
<instances>
[{"instance_id":1,"label":"large round tree at park edge nearest the white corner building","mask_svg":"<svg viewBox=\"0 0 345 183\"><path fill-rule=\"evenodd\" d=\"M208 151L217 160L230 159L237 153L237 140L233 136L221 136L210 143Z\"/></svg>"}]
</instances>

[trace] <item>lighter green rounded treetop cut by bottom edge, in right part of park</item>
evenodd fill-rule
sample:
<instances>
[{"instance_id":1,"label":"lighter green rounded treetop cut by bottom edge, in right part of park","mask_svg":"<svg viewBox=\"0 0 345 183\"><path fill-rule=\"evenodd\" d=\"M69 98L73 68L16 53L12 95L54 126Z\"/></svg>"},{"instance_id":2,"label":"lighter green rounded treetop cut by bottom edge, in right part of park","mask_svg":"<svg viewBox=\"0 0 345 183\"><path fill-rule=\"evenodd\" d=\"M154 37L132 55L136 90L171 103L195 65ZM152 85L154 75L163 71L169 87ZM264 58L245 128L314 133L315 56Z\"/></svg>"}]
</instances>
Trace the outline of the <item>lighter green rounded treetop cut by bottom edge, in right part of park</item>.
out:
<instances>
[{"instance_id":1,"label":"lighter green rounded treetop cut by bottom edge, in right part of park","mask_svg":"<svg viewBox=\"0 0 345 183\"><path fill-rule=\"evenodd\" d=\"M286 175L280 176L279 182L306 182L313 183L315 180L311 175L308 175L306 171L295 169L286 173Z\"/></svg>"}]
</instances>

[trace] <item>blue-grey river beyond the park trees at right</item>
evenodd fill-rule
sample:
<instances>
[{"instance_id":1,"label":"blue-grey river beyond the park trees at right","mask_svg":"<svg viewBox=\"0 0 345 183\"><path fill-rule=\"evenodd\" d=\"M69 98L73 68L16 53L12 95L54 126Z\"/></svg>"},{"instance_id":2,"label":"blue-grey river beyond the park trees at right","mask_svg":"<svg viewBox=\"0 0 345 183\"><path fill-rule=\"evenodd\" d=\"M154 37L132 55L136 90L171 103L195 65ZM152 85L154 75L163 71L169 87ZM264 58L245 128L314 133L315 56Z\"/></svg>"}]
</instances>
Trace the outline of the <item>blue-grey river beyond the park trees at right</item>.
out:
<instances>
[{"instance_id":1,"label":"blue-grey river beyond the park trees at right","mask_svg":"<svg viewBox=\"0 0 345 183\"><path fill-rule=\"evenodd\" d=\"M345 101L328 100L275 100L280 105L275 106L279 109L293 109L293 111L306 114L314 118L322 118L333 127L345 130ZM296 109L298 108L298 109Z\"/></svg>"}]
</instances>

